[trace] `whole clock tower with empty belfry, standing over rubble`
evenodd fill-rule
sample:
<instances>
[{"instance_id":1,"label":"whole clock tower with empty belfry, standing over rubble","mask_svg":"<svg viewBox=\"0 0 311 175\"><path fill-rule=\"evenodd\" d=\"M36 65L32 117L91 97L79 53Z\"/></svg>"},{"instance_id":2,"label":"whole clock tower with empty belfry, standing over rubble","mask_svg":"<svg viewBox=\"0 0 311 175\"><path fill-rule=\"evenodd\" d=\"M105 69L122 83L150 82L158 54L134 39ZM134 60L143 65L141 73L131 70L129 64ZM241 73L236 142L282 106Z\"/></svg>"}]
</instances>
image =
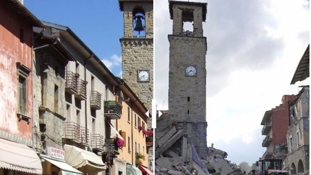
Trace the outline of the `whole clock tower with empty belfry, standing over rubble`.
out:
<instances>
[{"instance_id":1,"label":"whole clock tower with empty belfry, standing over rubble","mask_svg":"<svg viewBox=\"0 0 311 175\"><path fill-rule=\"evenodd\" d=\"M169 115L183 124L199 157L207 159L206 60L207 38L202 22L207 3L169 0L173 19L169 65ZM192 23L192 31L184 24Z\"/></svg>"}]
</instances>

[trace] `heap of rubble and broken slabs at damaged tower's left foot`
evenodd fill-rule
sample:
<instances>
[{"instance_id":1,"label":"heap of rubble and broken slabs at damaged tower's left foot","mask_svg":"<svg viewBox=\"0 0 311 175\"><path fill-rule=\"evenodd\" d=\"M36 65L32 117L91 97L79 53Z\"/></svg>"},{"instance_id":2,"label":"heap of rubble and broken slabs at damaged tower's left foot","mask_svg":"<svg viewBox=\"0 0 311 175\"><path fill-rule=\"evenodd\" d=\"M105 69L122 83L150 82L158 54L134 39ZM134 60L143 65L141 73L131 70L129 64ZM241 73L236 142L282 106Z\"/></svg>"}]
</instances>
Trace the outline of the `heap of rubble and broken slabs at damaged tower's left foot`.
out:
<instances>
[{"instance_id":1,"label":"heap of rubble and broken slabs at damaged tower's left foot","mask_svg":"<svg viewBox=\"0 0 311 175\"><path fill-rule=\"evenodd\" d=\"M209 175L183 126L171 123L163 114L155 129L156 175Z\"/></svg>"}]
</instances>

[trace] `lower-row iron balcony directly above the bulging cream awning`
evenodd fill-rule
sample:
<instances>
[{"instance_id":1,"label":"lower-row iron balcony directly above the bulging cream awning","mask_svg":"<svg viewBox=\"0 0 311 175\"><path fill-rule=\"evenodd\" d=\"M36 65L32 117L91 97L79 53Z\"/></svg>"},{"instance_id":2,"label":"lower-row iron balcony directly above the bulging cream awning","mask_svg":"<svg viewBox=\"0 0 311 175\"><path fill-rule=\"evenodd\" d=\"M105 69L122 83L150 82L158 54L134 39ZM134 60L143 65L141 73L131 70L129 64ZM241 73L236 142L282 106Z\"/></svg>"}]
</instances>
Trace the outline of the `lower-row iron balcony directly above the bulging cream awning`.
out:
<instances>
[{"instance_id":1,"label":"lower-row iron balcony directly above the bulging cream awning","mask_svg":"<svg viewBox=\"0 0 311 175\"><path fill-rule=\"evenodd\" d=\"M72 140L76 143L88 145L88 129L74 122L65 122L64 139Z\"/></svg>"}]
</instances>

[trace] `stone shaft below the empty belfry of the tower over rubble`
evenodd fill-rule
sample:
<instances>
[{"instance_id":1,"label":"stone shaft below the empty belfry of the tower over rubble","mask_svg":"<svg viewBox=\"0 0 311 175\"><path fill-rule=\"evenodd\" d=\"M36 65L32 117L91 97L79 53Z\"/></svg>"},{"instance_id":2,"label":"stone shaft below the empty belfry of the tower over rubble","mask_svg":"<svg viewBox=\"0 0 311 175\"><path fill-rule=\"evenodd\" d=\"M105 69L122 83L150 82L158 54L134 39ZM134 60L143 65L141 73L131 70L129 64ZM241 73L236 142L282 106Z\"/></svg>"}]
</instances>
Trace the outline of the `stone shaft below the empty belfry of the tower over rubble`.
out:
<instances>
[{"instance_id":1,"label":"stone shaft below the empty belfry of the tower over rubble","mask_svg":"<svg viewBox=\"0 0 311 175\"><path fill-rule=\"evenodd\" d=\"M169 35L169 114L173 122L187 125L187 134L200 157L207 158L206 38ZM197 67L196 77L185 69Z\"/></svg>"}]
</instances>

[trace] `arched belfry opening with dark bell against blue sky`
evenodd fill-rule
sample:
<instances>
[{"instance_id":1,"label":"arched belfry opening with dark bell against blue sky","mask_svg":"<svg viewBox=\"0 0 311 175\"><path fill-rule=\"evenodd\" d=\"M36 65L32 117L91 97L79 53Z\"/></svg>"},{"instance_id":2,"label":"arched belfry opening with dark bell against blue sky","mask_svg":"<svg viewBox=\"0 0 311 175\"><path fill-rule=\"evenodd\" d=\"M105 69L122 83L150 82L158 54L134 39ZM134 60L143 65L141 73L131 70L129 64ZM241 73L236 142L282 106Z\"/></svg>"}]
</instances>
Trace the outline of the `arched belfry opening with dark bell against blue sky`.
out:
<instances>
[{"instance_id":1,"label":"arched belfry opening with dark bell against blue sky","mask_svg":"<svg viewBox=\"0 0 311 175\"><path fill-rule=\"evenodd\" d=\"M145 12L141 8L136 8L133 11L133 36L134 37L146 36Z\"/></svg>"}]
</instances>

